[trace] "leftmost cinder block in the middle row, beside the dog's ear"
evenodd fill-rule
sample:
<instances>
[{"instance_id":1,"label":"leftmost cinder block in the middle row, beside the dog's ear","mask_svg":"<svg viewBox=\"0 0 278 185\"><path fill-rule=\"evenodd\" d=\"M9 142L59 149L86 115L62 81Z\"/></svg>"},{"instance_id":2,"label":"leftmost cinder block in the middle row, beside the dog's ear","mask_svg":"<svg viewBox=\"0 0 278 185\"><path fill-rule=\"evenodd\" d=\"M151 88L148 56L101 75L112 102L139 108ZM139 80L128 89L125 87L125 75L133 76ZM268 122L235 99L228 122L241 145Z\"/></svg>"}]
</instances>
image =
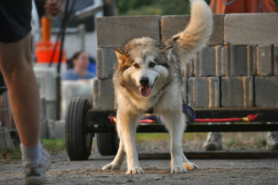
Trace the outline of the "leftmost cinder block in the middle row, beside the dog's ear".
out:
<instances>
[{"instance_id":1,"label":"leftmost cinder block in the middle row, beside the dog's ear","mask_svg":"<svg viewBox=\"0 0 278 185\"><path fill-rule=\"evenodd\" d=\"M116 54L111 48L98 48L96 50L96 75L98 79L112 78Z\"/></svg>"}]
</instances>

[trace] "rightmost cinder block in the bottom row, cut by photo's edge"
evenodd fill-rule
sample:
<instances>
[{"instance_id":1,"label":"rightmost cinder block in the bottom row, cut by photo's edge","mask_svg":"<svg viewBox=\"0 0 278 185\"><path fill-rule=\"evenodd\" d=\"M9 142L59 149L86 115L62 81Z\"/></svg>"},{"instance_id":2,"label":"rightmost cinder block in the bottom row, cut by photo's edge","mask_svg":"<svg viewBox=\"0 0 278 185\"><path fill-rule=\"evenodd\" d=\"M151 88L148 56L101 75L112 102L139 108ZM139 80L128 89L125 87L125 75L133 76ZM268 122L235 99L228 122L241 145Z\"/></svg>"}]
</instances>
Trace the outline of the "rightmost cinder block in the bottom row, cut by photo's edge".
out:
<instances>
[{"instance_id":1,"label":"rightmost cinder block in the bottom row, cut by photo's edge","mask_svg":"<svg viewBox=\"0 0 278 185\"><path fill-rule=\"evenodd\" d=\"M255 106L278 107L278 77L255 77Z\"/></svg>"}]
</instances>

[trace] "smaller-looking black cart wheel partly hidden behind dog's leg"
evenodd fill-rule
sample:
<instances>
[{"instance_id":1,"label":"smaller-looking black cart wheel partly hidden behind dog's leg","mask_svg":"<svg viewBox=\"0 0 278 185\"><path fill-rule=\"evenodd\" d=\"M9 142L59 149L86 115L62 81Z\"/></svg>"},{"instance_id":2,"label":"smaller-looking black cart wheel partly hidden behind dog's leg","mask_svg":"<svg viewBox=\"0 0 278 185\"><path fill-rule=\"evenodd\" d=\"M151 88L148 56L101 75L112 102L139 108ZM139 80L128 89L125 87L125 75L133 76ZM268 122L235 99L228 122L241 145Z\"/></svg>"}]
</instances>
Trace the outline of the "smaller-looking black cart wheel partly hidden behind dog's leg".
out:
<instances>
[{"instance_id":1,"label":"smaller-looking black cart wheel partly hidden behind dog's leg","mask_svg":"<svg viewBox=\"0 0 278 185\"><path fill-rule=\"evenodd\" d=\"M96 134L98 152L101 155L116 155L119 148L119 138L116 132Z\"/></svg>"}]
</instances>

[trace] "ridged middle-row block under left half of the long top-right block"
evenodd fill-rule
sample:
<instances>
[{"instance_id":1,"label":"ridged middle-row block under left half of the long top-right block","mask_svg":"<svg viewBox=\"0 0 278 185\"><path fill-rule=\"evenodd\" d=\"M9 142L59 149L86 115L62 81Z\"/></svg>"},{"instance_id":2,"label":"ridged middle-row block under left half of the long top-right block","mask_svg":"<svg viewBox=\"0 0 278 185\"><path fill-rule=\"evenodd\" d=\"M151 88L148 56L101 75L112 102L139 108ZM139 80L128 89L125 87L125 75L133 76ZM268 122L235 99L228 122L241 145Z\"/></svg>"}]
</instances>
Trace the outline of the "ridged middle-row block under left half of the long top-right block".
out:
<instances>
[{"instance_id":1,"label":"ridged middle-row block under left half of the long top-right block","mask_svg":"<svg viewBox=\"0 0 278 185\"><path fill-rule=\"evenodd\" d=\"M253 76L256 71L254 46L225 46L225 75Z\"/></svg>"}]
</instances>

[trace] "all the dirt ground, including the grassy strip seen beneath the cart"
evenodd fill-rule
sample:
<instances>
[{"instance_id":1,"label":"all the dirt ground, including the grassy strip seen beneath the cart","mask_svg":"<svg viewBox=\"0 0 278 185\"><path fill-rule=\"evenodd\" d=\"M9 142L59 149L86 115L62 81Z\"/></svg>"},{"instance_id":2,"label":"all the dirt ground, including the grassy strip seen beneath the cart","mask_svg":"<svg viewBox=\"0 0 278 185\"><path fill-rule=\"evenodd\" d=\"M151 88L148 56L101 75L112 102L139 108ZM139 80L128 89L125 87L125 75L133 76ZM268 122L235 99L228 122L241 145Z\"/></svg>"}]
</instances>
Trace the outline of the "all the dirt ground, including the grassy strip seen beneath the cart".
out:
<instances>
[{"instance_id":1,"label":"all the dirt ground, including the grassy strip seen beneath the cart","mask_svg":"<svg viewBox=\"0 0 278 185\"><path fill-rule=\"evenodd\" d=\"M223 133L223 150L220 152L259 153L265 150L266 132L261 133ZM183 140L184 152L205 153L202 144L206 133L186 134ZM144 175L125 175L126 163L122 170L103 171L114 156L101 156L94 141L92 154L87 161L70 161L64 152L50 151L51 168L45 184L277 184L278 152L270 159L188 159L200 169L184 174L170 174L169 136L166 134L138 134L136 148ZM219 151L218 151L219 152ZM214 152L213 152L214 153ZM151 157L142 157L145 156ZM154 155L155 154L155 155ZM158 155L157 155L158 154ZM166 154L166 155L165 155ZM164 159L158 159L163 158ZM168 156L168 157L167 157ZM210 155L211 156L211 155ZM216 159L215 159L216 158ZM141 159L141 160L140 160ZM0 185L24 184L23 169L20 162L0 163Z\"/></svg>"}]
</instances>

